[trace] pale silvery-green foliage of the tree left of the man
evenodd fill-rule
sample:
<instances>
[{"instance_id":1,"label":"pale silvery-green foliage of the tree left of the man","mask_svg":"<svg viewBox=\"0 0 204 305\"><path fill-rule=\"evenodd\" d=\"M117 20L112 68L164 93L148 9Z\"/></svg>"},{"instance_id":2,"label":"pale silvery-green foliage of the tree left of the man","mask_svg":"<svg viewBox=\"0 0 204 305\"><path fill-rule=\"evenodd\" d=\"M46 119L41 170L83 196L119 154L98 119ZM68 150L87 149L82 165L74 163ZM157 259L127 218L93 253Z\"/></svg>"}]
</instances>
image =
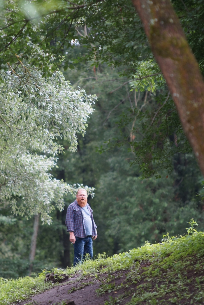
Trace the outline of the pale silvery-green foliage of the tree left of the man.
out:
<instances>
[{"instance_id":1,"label":"pale silvery-green foliage of the tree left of the man","mask_svg":"<svg viewBox=\"0 0 204 305\"><path fill-rule=\"evenodd\" d=\"M63 196L81 187L49 173L63 150L54 141L64 137L76 150L77 133L85 133L95 96L73 90L59 71L43 78L39 69L18 60L0 72L0 203L22 216L41 213L50 223L52 202L62 210Z\"/></svg>"}]
</instances>

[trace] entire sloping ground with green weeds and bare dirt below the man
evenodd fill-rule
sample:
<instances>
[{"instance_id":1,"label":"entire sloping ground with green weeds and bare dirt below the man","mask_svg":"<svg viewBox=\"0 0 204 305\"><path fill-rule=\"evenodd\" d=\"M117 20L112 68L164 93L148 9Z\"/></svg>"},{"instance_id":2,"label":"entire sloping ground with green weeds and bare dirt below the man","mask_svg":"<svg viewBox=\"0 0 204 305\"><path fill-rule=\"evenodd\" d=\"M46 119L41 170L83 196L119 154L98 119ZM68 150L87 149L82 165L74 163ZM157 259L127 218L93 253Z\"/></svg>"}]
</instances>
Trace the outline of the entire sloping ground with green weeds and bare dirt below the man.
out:
<instances>
[{"instance_id":1,"label":"entire sloping ground with green weeds and bare dirt below the man","mask_svg":"<svg viewBox=\"0 0 204 305\"><path fill-rule=\"evenodd\" d=\"M53 269L55 283L39 277L3 280L2 304L201 304L203 300L203 232L191 219L185 236L163 236L158 244L145 243L129 252L94 261L65 271ZM69 276L63 280L62 273ZM48 273L48 272L47 272ZM62 285L62 286L61 286ZM40 286L40 288L39 288ZM54 286L54 288L52 288ZM38 294L48 289L49 291ZM12 292L12 293L11 293ZM68 293L68 294L67 294ZM25 300L23 303L21 303Z\"/></svg>"}]
</instances>

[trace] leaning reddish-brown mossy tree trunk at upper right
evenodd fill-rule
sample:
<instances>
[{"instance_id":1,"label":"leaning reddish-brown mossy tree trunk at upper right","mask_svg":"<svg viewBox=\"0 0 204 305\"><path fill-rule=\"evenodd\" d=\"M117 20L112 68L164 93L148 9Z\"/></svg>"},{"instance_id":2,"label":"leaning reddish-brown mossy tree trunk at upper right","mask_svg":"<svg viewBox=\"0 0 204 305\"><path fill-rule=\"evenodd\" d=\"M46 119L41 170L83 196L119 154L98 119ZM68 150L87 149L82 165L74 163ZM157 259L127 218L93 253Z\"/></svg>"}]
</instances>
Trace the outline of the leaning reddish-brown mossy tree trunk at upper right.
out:
<instances>
[{"instance_id":1,"label":"leaning reddish-brown mossy tree trunk at upper right","mask_svg":"<svg viewBox=\"0 0 204 305\"><path fill-rule=\"evenodd\" d=\"M204 175L204 80L169 0L132 0Z\"/></svg>"}]
</instances>

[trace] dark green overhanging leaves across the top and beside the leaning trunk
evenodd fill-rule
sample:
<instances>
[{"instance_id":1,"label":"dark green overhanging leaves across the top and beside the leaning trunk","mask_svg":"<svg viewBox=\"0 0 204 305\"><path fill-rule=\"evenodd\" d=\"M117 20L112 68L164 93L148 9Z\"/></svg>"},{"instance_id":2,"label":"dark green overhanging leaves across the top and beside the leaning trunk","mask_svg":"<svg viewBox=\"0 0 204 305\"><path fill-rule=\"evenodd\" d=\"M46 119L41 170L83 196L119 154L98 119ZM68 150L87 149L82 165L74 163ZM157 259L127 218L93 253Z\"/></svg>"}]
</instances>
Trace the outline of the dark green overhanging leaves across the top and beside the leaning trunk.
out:
<instances>
[{"instance_id":1,"label":"dark green overhanging leaves across the top and beside the leaning trunk","mask_svg":"<svg viewBox=\"0 0 204 305\"><path fill-rule=\"evenodd\" d=\"M193 52L203 71L203 3L174 0ZM15 25L15 26L14 26ZM2 9L2 63L15 63L15 54L40 67L42 76L51 75L61 64L64 70L89 60L97 68L106 61L114 67L123 66L132 90L145 91L141 105L130 98L130 113L119 119L120 126L132 126L123 141L108 142L108 149L130 142L144 177L159 169L172 170L172 156L189 152L177 110L158 65L153 59L141 21L131 1L31 1L5 2ZM32 51L38 44L40 54ZM27 46L24 48L24 46ZM73 56L70 48L86 47L86 52ZM52 63L50 60L52 60ZM148 96L146 93L148 93ZM111 93L111 92L110 92ZM150 105L151 104L151 105ZM107 139L108 140L108 139ZM99 149L100 152L107 147Z\"/></svg>"}]
</instances>

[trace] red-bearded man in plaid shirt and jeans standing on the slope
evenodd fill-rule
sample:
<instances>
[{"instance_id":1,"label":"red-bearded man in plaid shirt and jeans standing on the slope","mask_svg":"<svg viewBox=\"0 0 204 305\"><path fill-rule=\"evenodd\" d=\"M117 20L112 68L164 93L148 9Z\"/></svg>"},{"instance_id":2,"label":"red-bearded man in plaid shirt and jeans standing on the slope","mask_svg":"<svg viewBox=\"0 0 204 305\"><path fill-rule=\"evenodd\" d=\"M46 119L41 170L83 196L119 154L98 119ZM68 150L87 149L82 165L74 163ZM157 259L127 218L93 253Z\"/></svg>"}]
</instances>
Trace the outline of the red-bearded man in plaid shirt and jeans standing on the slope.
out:
<instances>
[{"instance_id":1,"label":"red-bearded man in plaid shirt and jeans standing on the slope","mask_svg":"<svg viewBox=\"0 0 204 305\"><path fill-rule=\"evenodd\" d=\"M87 203L87 191L81 188L77 199L67 208L66 227L70 232L70 242L74 246L74 266L81 263L86 253L93 257L93 240L97 238L97 226L93 218L93 210Z\"/></svg>"}]
</instances>

